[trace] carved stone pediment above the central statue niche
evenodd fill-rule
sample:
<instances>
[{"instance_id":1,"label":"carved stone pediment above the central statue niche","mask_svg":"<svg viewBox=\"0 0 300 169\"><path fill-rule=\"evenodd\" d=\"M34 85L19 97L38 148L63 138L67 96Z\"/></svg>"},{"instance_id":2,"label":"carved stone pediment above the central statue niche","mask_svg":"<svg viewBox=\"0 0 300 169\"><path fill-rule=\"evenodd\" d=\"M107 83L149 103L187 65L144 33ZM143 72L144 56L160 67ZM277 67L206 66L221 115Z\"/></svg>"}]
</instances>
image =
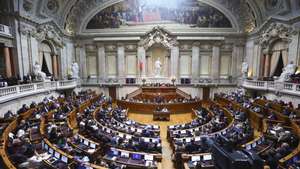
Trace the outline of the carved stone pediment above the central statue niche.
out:
<instances>
[{"instance_id":1,"label":"carved stone pediment above the central statue niche","mask_svg":"<svg viewBox=\"0 0 300 169\"><path fill-rule=\"evenodd\" d=\"M171 34L167 30L156 26L142 38L139 46L143 46L147 50L154 44L161 44L167 49L171 49L178 46L179 43L174 37L171 37Z\"/></svg>"}]
</instances>

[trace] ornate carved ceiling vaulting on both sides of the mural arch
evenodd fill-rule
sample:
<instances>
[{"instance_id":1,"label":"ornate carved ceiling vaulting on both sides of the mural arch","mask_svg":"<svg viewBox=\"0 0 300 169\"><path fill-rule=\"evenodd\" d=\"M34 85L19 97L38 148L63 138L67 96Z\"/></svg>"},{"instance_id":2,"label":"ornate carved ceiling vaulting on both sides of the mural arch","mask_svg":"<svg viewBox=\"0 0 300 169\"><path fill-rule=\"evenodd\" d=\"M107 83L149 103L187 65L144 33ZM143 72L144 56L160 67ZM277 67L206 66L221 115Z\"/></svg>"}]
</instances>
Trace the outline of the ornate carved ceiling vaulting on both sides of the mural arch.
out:
<instances>
[{"instance_id":1,"label":"ornate carved ceiling vaulting on both sides of the mural arch","mask_svg":"<svg viewBox=\"0 0 300 169\"><path fill-rule=\"evenodd\" d=\"M85 31L88 21L99 11L121 1L20 0L20 15L38 24L53 22L66 34L80 34ZM297 0L198 1L221 11L237 32L252 32L270 16L287 15L292 11L291 3L300 6Z\"/></svg>"}]
</instances>

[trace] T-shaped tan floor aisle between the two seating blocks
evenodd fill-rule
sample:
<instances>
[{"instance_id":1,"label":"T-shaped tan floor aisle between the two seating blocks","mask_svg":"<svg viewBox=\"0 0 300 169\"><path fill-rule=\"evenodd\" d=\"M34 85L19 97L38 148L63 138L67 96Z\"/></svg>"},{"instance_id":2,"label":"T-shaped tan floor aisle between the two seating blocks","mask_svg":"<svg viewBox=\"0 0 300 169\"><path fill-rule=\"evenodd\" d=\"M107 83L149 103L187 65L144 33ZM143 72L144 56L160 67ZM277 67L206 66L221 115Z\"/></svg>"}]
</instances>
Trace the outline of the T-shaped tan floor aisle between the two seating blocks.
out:
<instances>
[{"instance_id":1,"label":"T-shaped tan floor aisle between the two seating blocks","mask_svg":"<svg viewBox=\"0 0 300 169\"><path fill-rule=\"evenodd\" d=\"M183 124L192 121L191 113L172 114L170 121L153 121L152 114L128 113L131 120L143 124L155 124L160 126L160 137L162 144L162 162L158 165L158 169L175 169L172 162L173 150L167 140L167 127L175 124Z\"/></svg>"}]
</instances>

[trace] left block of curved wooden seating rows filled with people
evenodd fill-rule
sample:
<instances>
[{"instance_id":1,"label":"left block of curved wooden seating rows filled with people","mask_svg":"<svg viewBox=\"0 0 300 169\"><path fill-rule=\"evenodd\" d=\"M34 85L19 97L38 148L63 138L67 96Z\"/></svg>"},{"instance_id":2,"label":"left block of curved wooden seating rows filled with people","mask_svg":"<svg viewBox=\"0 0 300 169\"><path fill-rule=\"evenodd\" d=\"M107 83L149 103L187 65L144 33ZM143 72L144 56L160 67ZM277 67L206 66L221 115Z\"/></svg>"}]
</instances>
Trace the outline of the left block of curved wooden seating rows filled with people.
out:
<instances>
[{"instance_id":1,"label":"left block of curved wooden seating rows filled with people","mask_svg":"<svg viewBox=\"0 0 300 169\"><path fill-rule=\"evenodd\" d=\"M5 168L146 168L161 160L159 127L128 120L94 92L19 113L2 134Z\"/></svg>"}]
</instances>

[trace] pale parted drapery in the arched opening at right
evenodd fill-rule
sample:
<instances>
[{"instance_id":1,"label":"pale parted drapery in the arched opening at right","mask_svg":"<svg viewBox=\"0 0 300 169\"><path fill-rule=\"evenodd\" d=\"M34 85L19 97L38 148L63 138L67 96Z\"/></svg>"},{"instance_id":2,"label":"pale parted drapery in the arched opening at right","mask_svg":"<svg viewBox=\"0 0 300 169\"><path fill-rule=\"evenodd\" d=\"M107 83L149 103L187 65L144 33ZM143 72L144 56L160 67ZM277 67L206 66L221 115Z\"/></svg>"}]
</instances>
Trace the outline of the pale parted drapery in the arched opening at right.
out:
<instances>
[{"instance_id":1,"label":"pale parted drapery in the arched opening at right","mask_svg":"<svg viewBox=\"0 0 300 169\"><path fill-rule=\"evenodd\" d=\"M272 77L276 71L279 63L280 56L283 60L283 66L288 64L288 51L285 42L277 42L272 48L272 58L270 63L270 77Z\"/></svg>"}]
</instances>

